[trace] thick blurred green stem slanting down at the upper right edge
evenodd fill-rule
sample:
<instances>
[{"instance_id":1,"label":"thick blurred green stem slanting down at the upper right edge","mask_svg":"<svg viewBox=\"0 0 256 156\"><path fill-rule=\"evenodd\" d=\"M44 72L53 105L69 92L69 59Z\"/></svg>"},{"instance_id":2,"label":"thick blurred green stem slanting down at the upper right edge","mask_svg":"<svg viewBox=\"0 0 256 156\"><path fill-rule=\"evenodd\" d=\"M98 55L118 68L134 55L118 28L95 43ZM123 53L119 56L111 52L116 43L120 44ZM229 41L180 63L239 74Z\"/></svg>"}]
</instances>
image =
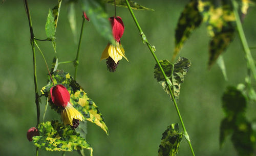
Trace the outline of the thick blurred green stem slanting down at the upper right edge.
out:
<instances>
[{"instance_id":1,"label":"thick blurred green stem slanting down at the upper right edge","mask_svg":"<svg viewBox=\"0 0 256 156\"><path fill-rule=\"evenodd\" d=\"M245 52L245 58L247 60L248 67L250 68L252 75L253 75L254 79L256 80L256 67L254 64L254 60L251 56L250 48L246 41L242 23L241 23L239 14L238 14L238 4L235 0L232 0L232 4L233 4L233 8L234 8L233 9L234 17L236 17L238 34L239 34L239 37L240 37L240 40L241 40L241 43L243 45L244 52Z\"/></svg>"}]
</instances>

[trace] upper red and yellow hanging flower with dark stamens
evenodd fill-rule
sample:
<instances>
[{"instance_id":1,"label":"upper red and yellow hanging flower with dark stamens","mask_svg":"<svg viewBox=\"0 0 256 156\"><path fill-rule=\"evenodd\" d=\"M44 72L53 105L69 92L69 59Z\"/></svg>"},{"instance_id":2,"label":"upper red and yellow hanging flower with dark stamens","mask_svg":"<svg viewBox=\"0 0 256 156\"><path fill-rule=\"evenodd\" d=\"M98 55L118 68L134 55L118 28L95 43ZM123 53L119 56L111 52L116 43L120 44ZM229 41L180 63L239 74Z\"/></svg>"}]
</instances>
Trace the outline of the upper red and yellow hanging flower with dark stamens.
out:
<instances>
[{"instance_id":1,"label":"upper red and yellow hanging flower with dark stamens","mask_svg":"<svg viewBox=\"0 0 256 156\"><path fill-rule=\"evenodd\" d=\"M121 60L123 57L127 60L120 41L120 38L123 35L124 25L121 17L110 17L109 20L112 25L112 33L116 40L116 44L113 45L108 43L108 45L106 45L105 49L103 50L100 60L107 59L106 64L108 69L111 72L114 72L117 68L119 60Z\"/></svg>"}]
</instances>

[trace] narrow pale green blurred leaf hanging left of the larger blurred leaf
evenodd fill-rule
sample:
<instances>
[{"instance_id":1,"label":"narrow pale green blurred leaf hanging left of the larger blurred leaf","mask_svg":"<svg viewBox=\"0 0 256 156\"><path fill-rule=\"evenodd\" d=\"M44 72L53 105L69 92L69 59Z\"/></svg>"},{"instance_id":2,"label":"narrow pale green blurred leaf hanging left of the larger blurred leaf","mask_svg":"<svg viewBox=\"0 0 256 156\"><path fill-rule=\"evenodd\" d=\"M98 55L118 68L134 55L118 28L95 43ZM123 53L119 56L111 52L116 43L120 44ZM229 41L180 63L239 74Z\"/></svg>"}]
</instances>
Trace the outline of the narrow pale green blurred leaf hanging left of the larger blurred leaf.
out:
<instances>
[{"instance_id":1,"label":"narrow pale green blurred leaf hanging left of the larger blurred leaf","mask_svg":"<svg viewBox=\"0 0 256 156\"><path fill-rule=\"evenodd\" d=\"M75 2L70 1L68 3L68 19L71 31L74 36L74 42L77 42L77 32L76 32L76 15L75 15Z\"/></svg>"}]
</instances>

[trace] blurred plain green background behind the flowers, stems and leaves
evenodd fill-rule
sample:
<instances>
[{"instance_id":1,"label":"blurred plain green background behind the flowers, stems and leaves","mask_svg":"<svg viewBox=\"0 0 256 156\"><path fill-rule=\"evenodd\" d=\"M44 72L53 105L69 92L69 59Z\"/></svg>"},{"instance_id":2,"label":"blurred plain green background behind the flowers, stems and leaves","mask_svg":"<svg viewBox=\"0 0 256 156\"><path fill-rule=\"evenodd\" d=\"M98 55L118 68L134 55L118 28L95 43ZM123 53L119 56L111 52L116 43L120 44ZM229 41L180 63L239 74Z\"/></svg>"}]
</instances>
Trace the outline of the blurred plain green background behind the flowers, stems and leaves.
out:
<instances>
[{"instance_id":1,"label":"blurred plain green background behind the flowers, stems and leaves","mask_svg":"<svg viewBox=\"0 0 256 156\"><path fill-rule=\"evenodd\" d=\"M137 1L155 11L135 11L135 15L147 39L156 46L159 59L172 58L175 28L184 6L188 1ZM49 8L57 1L29 1L34 34L46 38L45 22ZM78 8L78 7L77 7ZM82 21L81 10L77 9L77 32ZM114 7L107 6L110 16ZM250 46L256 45L256 10L249 10L243 27ZM88 123L87 140L94 155L157 155L162 133L170 123L179 122L173 103L154 79L155 61L143 45L130 12L117 8L122 17L125 31L122 45L126 57L119 62L117 71L107 71L105 60L100 61L107 41L86 22L82 36L78 83L94 100L103 114L110 135L95 124ZM26 133L36 125L34 99L32 50L28 19L23 1L7 0L0 5L0 155L34 155L35 147L27 140ZM74 60L77 43L74 43L67 18L67 1L62 2L56 31L57 57L59 61ZM221 97L228 85L244 83L246 62L238 36L223 54L228 82L221 70L214 65L207 70L208 41L206 25L203 23L185 43L180 56L191 60L192 66L181 85L178 106L187 128L196 155L237 155L230 137L219 148L219 126L224 114ZM50 42L39 42L48 64L54 51ZM256 50L252 50L256 57ZM46 85L47 70L39 55L37 76L39 88ZM74 74L72 64L62 64L59 69ZM42 98L41 118L45 109ZM248 103L246 116L255 119L255 103ZM46 120L60 119L48 109ZM180 131L182 128L180 126ZM40 155L60 155L59 152L39 151ZM78 155L67 152L66 155ZM183 139L178 155L190 155Z\"/></svg>"}]
</instances>

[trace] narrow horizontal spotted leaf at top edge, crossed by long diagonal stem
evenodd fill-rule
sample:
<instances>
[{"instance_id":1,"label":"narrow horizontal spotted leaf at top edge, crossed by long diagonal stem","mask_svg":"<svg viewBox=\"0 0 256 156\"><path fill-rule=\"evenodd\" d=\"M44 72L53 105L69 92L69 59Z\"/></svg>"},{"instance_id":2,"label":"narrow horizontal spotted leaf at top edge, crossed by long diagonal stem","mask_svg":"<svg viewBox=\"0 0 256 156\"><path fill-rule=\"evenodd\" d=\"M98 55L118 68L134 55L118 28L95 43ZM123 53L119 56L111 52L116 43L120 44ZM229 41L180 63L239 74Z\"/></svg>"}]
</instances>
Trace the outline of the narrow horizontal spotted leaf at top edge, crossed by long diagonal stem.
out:
<instances>
[{"instance_id":1,"label":"narrow horizontal spotted leaf at top edge, crossed by long diagonal stem","mask_svg":"<svg viewBox=\"0 0 256 156\"><path fill-rule=\"evenodd\" d=\"M103 0L103 2L109 3L111 5L115 5L115 1L114 0ZM139 5L136 2L133 2L133 1L130 1L130 0L129 0L129 4L130 4L131 8L134 9L134 10L150 10L150 11L154 11L154 9L146 8L146 7L144 7L142 5ZM117 7L127 8L125 0L116 0L116 6Z\"/></svg>"}]
</instances>

